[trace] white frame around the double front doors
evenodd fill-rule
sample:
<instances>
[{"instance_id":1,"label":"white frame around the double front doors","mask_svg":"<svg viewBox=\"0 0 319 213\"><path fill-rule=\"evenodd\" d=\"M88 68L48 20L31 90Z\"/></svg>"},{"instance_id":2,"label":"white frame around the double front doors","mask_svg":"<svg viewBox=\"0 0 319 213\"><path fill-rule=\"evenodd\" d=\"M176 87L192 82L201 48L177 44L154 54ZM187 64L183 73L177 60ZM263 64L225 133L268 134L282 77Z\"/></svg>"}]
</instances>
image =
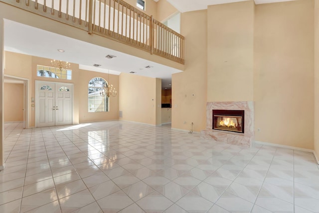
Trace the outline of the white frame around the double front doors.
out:
<instances>
[{"instance_id":1,"label":"white frame around the double front doors","mask_svg":"<svg viewBox=\"0 0 319 213\"><path fill-rule=\"evenodd\" d=\"M71 94L72 94L72 100L71 100L71 103L72 103L72 115L71 115L71 119L72 119L72 124L74 124L74 121L73 121L73 117L74 117L74 84L73 83L65 83L65 82L58 82L58 81L42 81L42 80L35 80L35 82L34 82L34 99L35 99L35 107L34 107L34 109L35 109L35 113L34 113L34 116L35 116L35 122L34 122L34 124L35 124L35 127L37 127L37 123L38 123L38 119L39 119L39 110L38 110L38 93L39 93L39 91L38 91L38 88L37 88L37 85L38 84L40 84L40 83L53 83L53 84L66 84L66 85L72 85L72 92L71 92ZM55 91L54 91L54 93L55 93ZM55 96L54 96L54 98L55 98ZM54 125L55 126L55 125Z\"/></svg>"}]
</instances>

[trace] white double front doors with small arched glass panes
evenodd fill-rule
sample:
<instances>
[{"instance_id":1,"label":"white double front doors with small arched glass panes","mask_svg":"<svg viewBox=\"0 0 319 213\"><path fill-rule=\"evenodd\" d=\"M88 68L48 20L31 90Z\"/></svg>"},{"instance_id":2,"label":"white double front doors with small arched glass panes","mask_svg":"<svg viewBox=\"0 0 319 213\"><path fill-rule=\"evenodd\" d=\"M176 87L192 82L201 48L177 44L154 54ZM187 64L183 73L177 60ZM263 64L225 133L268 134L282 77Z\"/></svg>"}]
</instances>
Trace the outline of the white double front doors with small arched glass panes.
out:
<instances>
[{"instance_id":1,"label":"white double front doors with small arched glass panes","mask_svg":"<svg viewBox=\"0 0 319 213\"><path fill-rule=\"evenodd\" d=\"M72 84L36 81L36 127L72 124Z\"/></svg>"}]
</instances>

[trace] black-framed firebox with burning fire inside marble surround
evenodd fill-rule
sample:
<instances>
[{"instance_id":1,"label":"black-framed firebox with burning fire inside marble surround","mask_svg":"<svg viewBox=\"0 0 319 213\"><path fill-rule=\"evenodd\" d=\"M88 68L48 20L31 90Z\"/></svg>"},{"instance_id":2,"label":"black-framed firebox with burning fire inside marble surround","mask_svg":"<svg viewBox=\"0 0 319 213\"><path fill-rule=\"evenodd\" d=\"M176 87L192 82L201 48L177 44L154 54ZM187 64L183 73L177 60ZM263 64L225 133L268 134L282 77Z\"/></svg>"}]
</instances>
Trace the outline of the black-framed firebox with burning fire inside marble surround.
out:
<instances>
[{"instance_id":1,"label":"black-framed firebox with burning fire inside marble surround","mask_svg":"<svg viewBox=\"0 0 319 213\"><path fill-rule=\"evenodd\" d=\"M214 110L213 129L244 133L244 110Z\"/></svg>"}]
</instances>

